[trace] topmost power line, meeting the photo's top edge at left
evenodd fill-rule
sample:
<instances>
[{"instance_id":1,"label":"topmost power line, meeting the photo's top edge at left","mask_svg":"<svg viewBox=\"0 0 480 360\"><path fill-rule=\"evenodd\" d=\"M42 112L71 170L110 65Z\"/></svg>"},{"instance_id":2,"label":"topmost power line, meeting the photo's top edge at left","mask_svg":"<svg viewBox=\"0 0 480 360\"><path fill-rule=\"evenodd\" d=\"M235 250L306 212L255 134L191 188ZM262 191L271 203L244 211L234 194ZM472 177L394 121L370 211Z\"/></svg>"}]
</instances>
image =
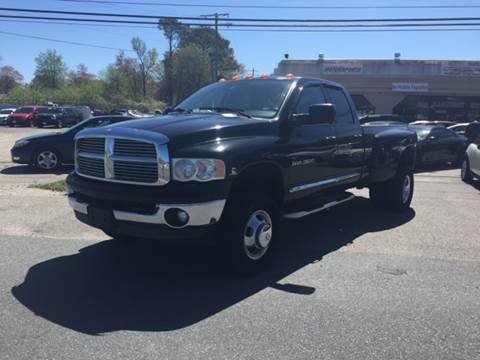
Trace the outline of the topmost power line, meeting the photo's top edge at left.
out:
<instances>
[{"instance_id":1,"label":"topmost power line, meeting the photo's top edge at left","mask_svg":"<svg viewBox=\"0 0 480 360\"><path fill-rule=\"evenodd\" d=\"M164 2L140 2L140 1L114 1L114 0L56 0L59 2L92 3L92 4L115 4L115 5L142 5L142 6L166 6L166 7L202 7L202 8L229 8L229 9L477 9L480 5L226 5L226 4L194 4L194 3L164 3Z\"/></svg>"}]
</instances>

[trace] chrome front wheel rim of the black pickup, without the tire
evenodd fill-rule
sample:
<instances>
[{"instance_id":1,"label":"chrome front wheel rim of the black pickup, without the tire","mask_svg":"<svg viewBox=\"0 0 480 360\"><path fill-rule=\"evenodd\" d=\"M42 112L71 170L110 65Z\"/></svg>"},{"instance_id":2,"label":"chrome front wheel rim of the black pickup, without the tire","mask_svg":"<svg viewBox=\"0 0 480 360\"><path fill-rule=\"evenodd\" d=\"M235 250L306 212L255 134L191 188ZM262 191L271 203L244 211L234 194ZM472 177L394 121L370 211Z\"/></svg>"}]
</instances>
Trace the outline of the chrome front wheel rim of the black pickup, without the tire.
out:
<instances>
[{"instance_id":1,"label":"chrome front wheel rim of the black pickup, without the tire","mask_svg":"<svg viewBox=\"0 0 480 360\"><path fill-rule=\"evenodd\" d=\"M252 260L265 255L272 240L272 219L264 210L257 210L248 218L243 232L243 247Z\"/></svg>"}]
</instances>

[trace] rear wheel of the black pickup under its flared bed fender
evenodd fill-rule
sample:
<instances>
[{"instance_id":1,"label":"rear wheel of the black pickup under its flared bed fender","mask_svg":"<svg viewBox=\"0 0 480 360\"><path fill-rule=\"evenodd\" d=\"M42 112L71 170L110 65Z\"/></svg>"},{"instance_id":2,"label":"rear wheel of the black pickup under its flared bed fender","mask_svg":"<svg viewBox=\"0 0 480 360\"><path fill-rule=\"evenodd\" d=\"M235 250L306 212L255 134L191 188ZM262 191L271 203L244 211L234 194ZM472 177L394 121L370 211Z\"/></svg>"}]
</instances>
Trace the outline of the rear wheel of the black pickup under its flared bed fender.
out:
<instances>
[{"instance_id":1,"label":"rear wheel of the black pickup under its flared bed fender","mask_svg":"<svg viewBox=\"0 0 480 360\"><path fill-rule=\"evenodd\" d=\"M393 179L370 187L370 200L381 210L406 211L412 202L414 184L413 173L400 169Z\"/></svg>"}]
</instances>

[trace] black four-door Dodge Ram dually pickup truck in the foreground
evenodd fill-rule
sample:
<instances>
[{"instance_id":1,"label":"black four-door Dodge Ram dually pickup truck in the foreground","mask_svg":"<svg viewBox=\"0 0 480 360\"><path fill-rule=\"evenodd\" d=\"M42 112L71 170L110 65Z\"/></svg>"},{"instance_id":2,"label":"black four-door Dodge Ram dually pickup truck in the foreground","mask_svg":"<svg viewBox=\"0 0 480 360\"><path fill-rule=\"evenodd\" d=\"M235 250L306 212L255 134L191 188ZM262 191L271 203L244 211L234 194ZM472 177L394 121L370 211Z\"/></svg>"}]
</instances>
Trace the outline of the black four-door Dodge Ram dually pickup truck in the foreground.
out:
<instances>
[{"instance_id":1,"label":"black four-door Dodge Ram dually pickup truck in the foreground","mask_svg":"<svg viewBox=\"0 0 480 360\"><path fill-rule=\"evenodd\" d=\"M360 126L333 82L224 81L157 119L78 133L68 196L80 221L118 240L215 231L230 263L251 273L268 262L282 217L344 203L349 188L368 187L378 208L408 209L416 139Z\"/></svg>"}]
</instances>

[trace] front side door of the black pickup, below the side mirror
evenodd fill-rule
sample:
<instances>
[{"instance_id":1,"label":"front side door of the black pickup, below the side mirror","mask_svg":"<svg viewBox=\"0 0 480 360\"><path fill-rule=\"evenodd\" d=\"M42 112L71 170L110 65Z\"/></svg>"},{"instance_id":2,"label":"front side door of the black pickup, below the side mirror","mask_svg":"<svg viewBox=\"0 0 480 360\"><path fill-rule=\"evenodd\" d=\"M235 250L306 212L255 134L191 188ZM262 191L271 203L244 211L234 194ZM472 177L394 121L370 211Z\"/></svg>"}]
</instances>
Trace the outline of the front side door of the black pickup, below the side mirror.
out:
<instances>
[{"instance_id":1,"label":"front side door of the black pickup, below the side mirror","mask_svg":"<svg viewBox=\"0 0 480 360\"><path fill-rule=\"evenodd\" d=\"M308 114L311 105L326 102L320 83L306 85L294 108L294 114ZM290 193L302 197L334 185L334 152L333 124L303 124L291 127L287 145Z\"/></svg>"}]
</instances>

